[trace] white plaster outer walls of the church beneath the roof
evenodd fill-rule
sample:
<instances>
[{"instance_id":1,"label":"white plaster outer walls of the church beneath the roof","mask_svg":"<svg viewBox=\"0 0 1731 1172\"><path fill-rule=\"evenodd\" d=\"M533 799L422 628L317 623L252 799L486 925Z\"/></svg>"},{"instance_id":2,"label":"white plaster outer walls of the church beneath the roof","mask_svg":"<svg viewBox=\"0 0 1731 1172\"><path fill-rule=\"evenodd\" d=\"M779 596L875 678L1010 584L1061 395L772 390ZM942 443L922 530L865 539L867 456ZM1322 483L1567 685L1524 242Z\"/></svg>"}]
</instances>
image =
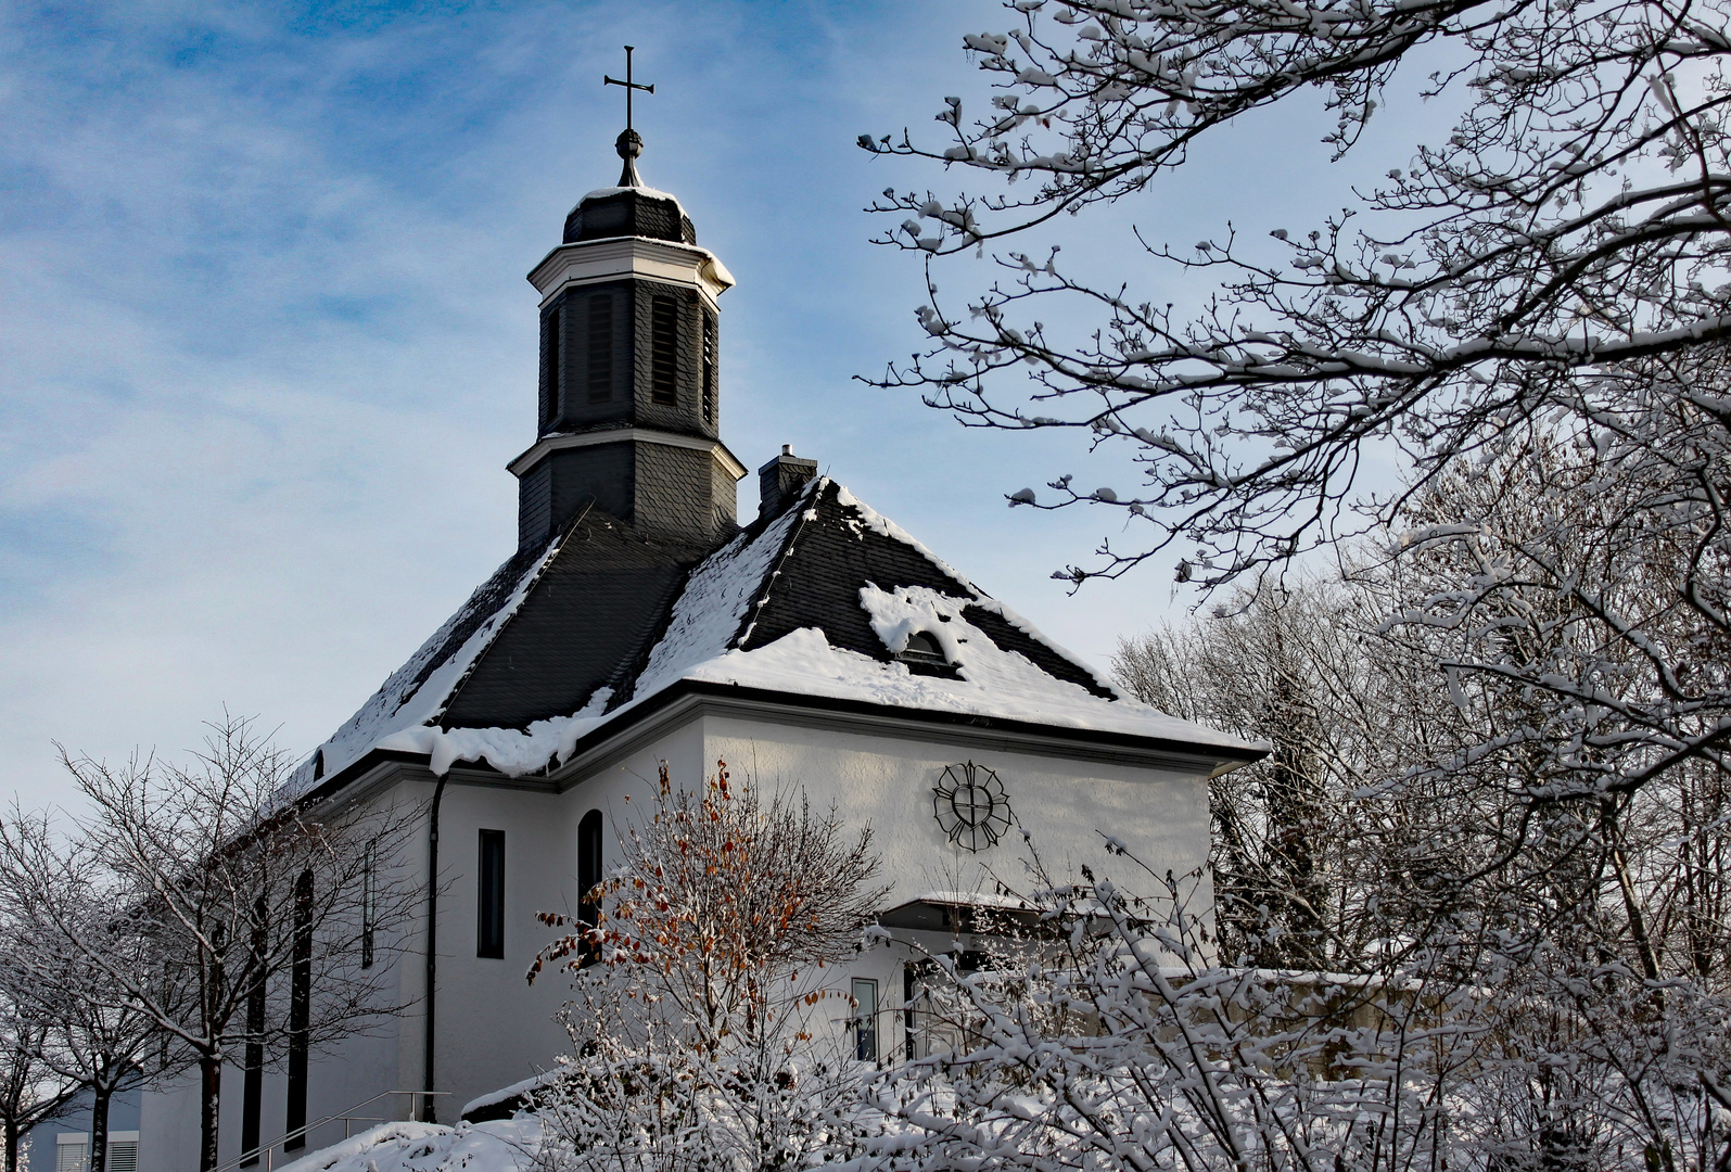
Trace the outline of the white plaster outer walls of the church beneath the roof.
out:
<instances>
[{"instance_id":1,"label":"white plaster outer walls of the church beneath the roof","mask_svg":"<svg viewBox=\"0 0 1731 1172\"><path fill-rule=\"evenodd\" d=\"M469 1099L545 1070L564 1049L556 1023L568 994L563 973L545 973L530 987L524 975L552 931L535 921L538 911L571 912L576 907L576 827L597 808L608 821L604 848L616 859L616 827L639 817L654 795L660 762L668 762L677 784L696 784L725 760L736 779L760 793L798 791L826 810L831 803L850 826L871 826L881 855L881 881L891 888L888 904L924 892L992 892L1002 879L1028 881L1028 843L1044 857L1054 878L1078 876L1082 864L1096 874L1134 879L1123 860L1104 848L1113 834L1156 873L1191 871L1207 859L1208 789L1201 772L1146 769L1127 763L1077 760L1026 750L988 750L976 739L959 741L943 729L914 736L855 732L769 718L692 715L623 757L597 763L563 793L462 779L454 774L440 810L440 935L438 935L438 1101L440 1118L452 1122ZM945 765L973 760L997 770L1016 826L997 847L971 853L950 843L933 817L933 786ZM428 781L398 784L374 800L431 798ZM505 833L505 957L476 956L479 831ZM403 874L422 886L426 874L424 826L409 840ZM1146 886L1146 885L1144 885ZM422 983L424 923L415 912L405 926L395 975L403 1001L419 1002ZM878 980L879 1002L902 995L905 949L876 949L838 971L838 987L853 975ZM838 1028L846 1016L838 1006ZM383 1023L374 1035L351 1039L332 1054L315 1054L308 1085L308 1118L334 1113L391 1089L419 1089L422 1077L422 1006ZM902 1044L898 1014L881 1013L879 1051L890 1058ZM223 1085L223 1158L239 1155L241 1072ZM405 1103L376 1104L369 1115L402 1117ZM286 1085L280 1075L265 1082L261 1136L284 1130ZM341 1124L312 1139L322 1146L341 1137ZM196 1167L196 1082L147 1092L140 1136L140 1167L178 1172Z\"/></svg>"}]
</instances>

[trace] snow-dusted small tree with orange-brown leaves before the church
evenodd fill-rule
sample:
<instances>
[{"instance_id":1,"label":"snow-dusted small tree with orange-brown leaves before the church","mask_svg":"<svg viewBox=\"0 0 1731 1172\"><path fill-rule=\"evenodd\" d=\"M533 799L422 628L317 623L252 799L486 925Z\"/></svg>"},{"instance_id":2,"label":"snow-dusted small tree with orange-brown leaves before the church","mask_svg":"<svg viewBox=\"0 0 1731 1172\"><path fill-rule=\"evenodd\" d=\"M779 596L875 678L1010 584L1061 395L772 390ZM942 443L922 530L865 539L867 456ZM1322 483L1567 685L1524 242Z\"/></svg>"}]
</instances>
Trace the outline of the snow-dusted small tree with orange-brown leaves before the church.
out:
<instances>
[{"instance_id":1,"label":"snow-dusted small tree with orange-brown leaves before the church","mask_svg":"<svg viewBox=\"0 0 1731 1172\"><path fill-rule=\"evenodd\" d=\"M587 898L594 926L542 950L573 973L573 1054L537 1101L554 1169L798 1169L846 1134L855 1065L814 1014L852 1004L852 954L883 890L871 831L661 767L654 805ZM575 931L571 931L575 930Z\"/></svg>"}]
</instances>

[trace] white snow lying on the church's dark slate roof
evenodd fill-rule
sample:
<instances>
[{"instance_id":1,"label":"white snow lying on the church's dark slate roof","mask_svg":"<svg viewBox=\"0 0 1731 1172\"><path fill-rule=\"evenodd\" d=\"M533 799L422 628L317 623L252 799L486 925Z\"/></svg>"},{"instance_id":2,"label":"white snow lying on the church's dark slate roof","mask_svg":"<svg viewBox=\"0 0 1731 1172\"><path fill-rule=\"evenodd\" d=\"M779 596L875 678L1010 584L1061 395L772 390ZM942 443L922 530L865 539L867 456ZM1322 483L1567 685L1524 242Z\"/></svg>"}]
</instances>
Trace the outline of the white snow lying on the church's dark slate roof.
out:
<instances>
[{"instance_id":1,"label":"white snow lying on the church's dark slate roof","mask_svg":"<svg viewBox=\"0 0 1731 1172\"><path fill-rule=\"evenodd\" d=\"M831 485L827 478L812 481L801 500L762 530L746 530L703 559L673 602L660 639L653 644L637 679L618 692L597 689L582 710L518 729L440 729L436 720L447 698L464 672L481 654L499 627L523 602L545 566L549 551L516 583L516 589L486 623L457 653L426 675L426 682L407 699L389 703L396 680L422 672L421 656L431 654L445 637L434 635L325 746L325 772L336 772L358 760L369 748L426 753L436 774L455 762L485 760L507 776L523 776L564 762L589 732L620 720L653 696L682 680L753 687L795 696L826 696L886 708L942 712L1016 720L1033 725L1115 732L1194 744L1243 757L1258 746L1179 720L1148 705L1123 699L1106 687L1091 691L1082 684L1058 679L1020 651L1001 647L978 621L997 616L1030 639L1058 651L1075 665L1082 660L1063 653L1052 641L1002 602L975 589L968 578L942 563L905 530L859 502L836 485L834 502L843 509L841 525L855 533L871 530L917 551L956 583L956 592L931 587L879 589L866 583L857 602L883 641L885 658L853 647L833 646L819 627L800 627L781 637L751 646L751 630L760 608L791 549L800 540L800 526L819 521L819 495ZM969 621L969 613L976 621ZM460 613L459 613L460 618ZM447 623L447 630L455 623ZM956 677L914 673L893 658L905 649L914 632L935 637L954 665ZM748 649L750 647L750 649ZM1094 679L1097 672L1087 668ZM400 691L400 687L396 687ZM1106 694L1097 694L1104 691ZM305 770L305 767L303 767Z\"/></svg>"}]
</instances>

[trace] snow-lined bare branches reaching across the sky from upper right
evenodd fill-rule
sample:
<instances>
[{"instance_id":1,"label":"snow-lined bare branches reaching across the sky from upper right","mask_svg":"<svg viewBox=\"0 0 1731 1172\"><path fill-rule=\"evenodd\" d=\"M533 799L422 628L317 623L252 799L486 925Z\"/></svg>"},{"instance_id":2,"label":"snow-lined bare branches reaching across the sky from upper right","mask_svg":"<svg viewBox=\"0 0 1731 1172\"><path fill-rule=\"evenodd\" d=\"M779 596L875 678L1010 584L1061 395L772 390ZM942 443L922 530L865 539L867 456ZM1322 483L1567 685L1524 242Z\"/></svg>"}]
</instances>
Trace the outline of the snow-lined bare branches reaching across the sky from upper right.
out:
<instances>
[{"instance_id":1,"label":"snow-lined bare branches reaching across the sky from upper right","mask_svg":"<svg viewBox=\"0 0 1731 1172\"><path fill-rule=\"evenodd\" d=\"M1435 580L1425 621L1477 625L1475 615L1499 613L1497 596L1556 596L1544 609L1573 628L1572 661L1483 654L1463 666L1544 696L1544 725L1591 713L1598 731L1556 776L1625 791L1688 758L1722 767L1724 3L1009 9L1006 33L968 38L1002 90L987 116L968 121L950 100L940 113L950 145L866 144L942 159L985 185L952 197L891 189L881 201L907 216L885 239L928 265L921 320L933 338L883 383L917 386L966 424L1078 428L1134 454L1139 485L1087 492L1066 474L1011 497L1127 514L1141 537L1110 540L1092 568L1065 571L1077 583L1170 551L1181 580L1219 585L1350 533L1404 531L1414 554L1454 547L1433 568L1458 576ZM1329 95L1329 142L1345 152L1397 69L1426 62L1442 69L1419 88L1463 107L1452 133L1418 145L1348 211L1309 232L1271 223L1264 244L1227 230L1193 249L1146 248L1151 270L1219 277L1187 320L1139 293L1141 274L1091 286L1026 251L1001 253L1004 275L966 308L936 296L943 254L1007 249L1016 234L1032 251L1058 213L1149 189L1208 132L1307 87ZM1077 338L1042 325L1061 305L1092 325ZM1463 462L1508 466L1544 445L1579 460L1553 464L1553 485L1504 483L1598 507L1534 514L1548 528L1490 533L1497 549L1471 556L1482 516L1425 521L1438 480L1471 476ZM1366 485L1364 469L1387 460L1404 480ZM1468 499L1454 493L1454 504ZM1494 573L1477 576L1485 568ZM1625 582L1641 592L1615 589ZM1601 710L1608 672L1632 672L1634 686L1618 682ZM1572 743L1560 725L1544 736Z\"/></svg>"}]
</instances>

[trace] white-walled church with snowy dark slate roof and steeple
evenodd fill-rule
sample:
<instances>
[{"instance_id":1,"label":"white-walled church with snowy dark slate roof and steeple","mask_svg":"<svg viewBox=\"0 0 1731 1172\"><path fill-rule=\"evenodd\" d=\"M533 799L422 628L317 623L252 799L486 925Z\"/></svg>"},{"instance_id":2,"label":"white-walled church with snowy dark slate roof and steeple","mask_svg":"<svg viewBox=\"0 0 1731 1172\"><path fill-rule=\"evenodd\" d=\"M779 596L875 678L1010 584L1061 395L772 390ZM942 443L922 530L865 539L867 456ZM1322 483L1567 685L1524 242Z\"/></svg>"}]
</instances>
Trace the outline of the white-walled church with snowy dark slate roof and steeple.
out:
<instances>
[{"instance_id":1,"label":"white-walled church with snowy dark slate roof and steeple","mask_svg":"<svg viewBox=\"0 0 1731 1172\"><path fill-rule=\"evenodd\" d=\"M509 466L518 552L296 776L305 795L428 810L386 860L426 914L379 947L412 1008L303 1058L303 1077L228 1072L223 1160L325 1115L452 1122L547 1068L566 987L524 982L550 938L535 912L576 909L661 762L696 784L725 760L869 822L885 923L954 933L990 871L1014 871L1020 831L1058 866L1097 862L1111 834L1155 867L1200 867L1208 777L1260 757L1120 698L815 460L763 464L739 528L717 362L732 277L679 201L637 182L639 149L620 137L620 185L585 196L530 274L542 362L535 441ZM878 949L850 973L871 982L881 1058L907 1044L907 959ZM353 1110L393 1091L440 1094ZM138 1167L197 1167L194 1089L145 1094Z\"/></svg>"}]
</instances>

